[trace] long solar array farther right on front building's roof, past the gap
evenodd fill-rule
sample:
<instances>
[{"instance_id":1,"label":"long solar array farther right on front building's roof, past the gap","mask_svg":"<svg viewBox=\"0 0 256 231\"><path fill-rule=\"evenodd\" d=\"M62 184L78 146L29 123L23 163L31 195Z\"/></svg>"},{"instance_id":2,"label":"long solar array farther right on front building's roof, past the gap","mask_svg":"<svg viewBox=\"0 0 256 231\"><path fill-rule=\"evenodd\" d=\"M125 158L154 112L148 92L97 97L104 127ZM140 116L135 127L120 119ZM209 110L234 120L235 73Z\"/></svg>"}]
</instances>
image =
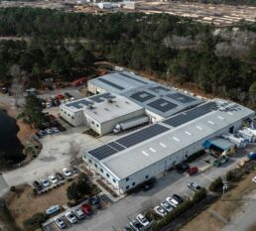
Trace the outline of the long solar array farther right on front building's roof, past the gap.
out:
<instances>
[{"instance_id":1,"label":"long solar array farther right on front building's roof, past the gap","mask_svg":"<svg viewBox=\"0 0 256 231\"><path fill-rule=\"evenodd\" d=\"M163 123L168 124L172 127L178 127L182 124L192 121L195 118L198 118L202 115L209 113L215 107L216 107L215 102L208 102L201 106L195 107L190 111L184 112L182 114L178 114L170 119L167 119Z\"/></svg>"}]
</instances>

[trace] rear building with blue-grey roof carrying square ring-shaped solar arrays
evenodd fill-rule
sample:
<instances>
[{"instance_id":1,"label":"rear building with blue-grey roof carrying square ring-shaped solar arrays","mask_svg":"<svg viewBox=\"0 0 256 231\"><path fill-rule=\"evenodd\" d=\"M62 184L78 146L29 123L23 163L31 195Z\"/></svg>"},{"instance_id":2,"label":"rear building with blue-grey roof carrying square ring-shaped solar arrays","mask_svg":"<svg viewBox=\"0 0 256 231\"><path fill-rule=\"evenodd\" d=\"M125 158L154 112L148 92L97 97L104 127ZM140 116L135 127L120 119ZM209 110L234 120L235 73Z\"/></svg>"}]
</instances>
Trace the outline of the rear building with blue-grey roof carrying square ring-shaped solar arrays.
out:
<instances>
[{"instance_id":1,"label":"rear building with blue-grey roof carrying square ring-shaped solar arrays","mask_svg":"<svg viewBox=\"0 0 256 231\"><path fill-rule=\"evenodd\" d=\"M145 108L151 123L161 121L201 103L201 100L133 72L106 74L88 81L92 94L113 92Z\"/></svg>"}]
</instances>

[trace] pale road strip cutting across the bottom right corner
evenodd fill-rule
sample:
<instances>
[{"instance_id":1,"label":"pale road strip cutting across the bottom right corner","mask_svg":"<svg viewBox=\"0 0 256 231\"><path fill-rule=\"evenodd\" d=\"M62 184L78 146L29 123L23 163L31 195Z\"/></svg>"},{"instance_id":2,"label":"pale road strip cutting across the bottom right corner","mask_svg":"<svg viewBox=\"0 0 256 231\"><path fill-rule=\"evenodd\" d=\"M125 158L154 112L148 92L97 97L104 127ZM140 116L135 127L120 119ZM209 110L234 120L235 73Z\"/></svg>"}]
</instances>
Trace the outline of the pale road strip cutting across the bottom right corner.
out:
<instances>
[{"instance_id":1,"label":"pale road strip cutting across the bottom right corner","mask_svg":"<svg viewBox=\"0 0 256 231\"><path fill-rule=\"evenodd\" d=\"M226 225L222 231L248 230L255 223L256 192L250 195L250 200L246 201L242 211L236 214L232 221Z\"/></svg>"}]
</instances>

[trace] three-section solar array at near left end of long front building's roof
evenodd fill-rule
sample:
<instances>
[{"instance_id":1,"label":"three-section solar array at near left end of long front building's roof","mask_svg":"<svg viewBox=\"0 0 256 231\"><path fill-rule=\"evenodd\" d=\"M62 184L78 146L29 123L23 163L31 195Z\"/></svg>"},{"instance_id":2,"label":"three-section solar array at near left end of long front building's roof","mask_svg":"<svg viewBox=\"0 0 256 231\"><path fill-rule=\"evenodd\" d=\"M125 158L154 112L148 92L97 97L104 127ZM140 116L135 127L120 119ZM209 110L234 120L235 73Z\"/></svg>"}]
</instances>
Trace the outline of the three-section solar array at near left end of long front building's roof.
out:
<instances>
[{"instance_id":1,"label":"three-section solar array at near left end of long front building's roof","mask_svg":"<svg viewBox=\"0 0 256 231\"><path fill-rule=\"evenodd\" d=\"M167 127L160 124L155 124L151 127L120 138L114 142L110 142L107 145L103 145L97 149L91 150L88 153L100 161L168 130L169 128Z\"/></svg>"}]
</instances>

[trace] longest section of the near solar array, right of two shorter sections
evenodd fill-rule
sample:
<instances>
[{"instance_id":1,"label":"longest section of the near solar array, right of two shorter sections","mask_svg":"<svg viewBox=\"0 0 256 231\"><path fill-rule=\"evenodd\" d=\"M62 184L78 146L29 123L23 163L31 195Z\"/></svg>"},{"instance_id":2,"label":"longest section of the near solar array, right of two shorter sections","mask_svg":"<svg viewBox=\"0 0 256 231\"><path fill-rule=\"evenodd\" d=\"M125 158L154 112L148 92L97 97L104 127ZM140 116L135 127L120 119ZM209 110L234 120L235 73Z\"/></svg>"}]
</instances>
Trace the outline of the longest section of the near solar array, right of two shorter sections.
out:
<instances>
[{"instance_id":1,"label":"longest section of the near solar array, right of two shorter sections","mask_svg":"<svg viewBox=\"0 0 256 231\"><path fill-rule=\"evenodd\" d=\"M119 143L120 145L122 145L126 148L129 148L129 147L137 145L143 141L146 141L152 137L155 137L159 134L162 134L168 130L169 130L169 128L166 128L160 124L155 124L153 126L145 128L143 130L135 132L131 135L120 138L120 139L116 140L115 142Z\"/></svg>"}]
</instances>

